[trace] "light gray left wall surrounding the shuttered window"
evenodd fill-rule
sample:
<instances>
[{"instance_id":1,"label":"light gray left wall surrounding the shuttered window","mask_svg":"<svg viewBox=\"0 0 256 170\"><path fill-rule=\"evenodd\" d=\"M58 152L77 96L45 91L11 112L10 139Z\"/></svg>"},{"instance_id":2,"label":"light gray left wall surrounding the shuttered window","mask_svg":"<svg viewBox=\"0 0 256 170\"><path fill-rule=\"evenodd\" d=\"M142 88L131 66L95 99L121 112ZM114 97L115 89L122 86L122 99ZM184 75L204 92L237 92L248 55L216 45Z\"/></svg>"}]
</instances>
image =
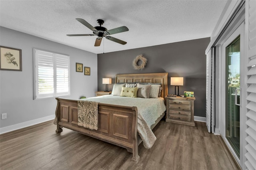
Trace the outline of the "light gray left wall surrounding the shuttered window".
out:
<instances>
[{"instance_id":1,"label":"light gray left wall surrounding the shuttered window","mask_svg":"<svg viewBox=\"0 0 256 170\"><path fill-rule=\"evenodd\" d=\"M55 115L55 98L33 100L33 48L70 56L71 95L65 98L95 96L97 54L4 27L0 27L0 45L22 50L22 71L0 71L0 113L7 113L7 119L0 120L1 129ZM76 72L76 62L90 67L91 75Z\"/></svg>"}]
</instances>

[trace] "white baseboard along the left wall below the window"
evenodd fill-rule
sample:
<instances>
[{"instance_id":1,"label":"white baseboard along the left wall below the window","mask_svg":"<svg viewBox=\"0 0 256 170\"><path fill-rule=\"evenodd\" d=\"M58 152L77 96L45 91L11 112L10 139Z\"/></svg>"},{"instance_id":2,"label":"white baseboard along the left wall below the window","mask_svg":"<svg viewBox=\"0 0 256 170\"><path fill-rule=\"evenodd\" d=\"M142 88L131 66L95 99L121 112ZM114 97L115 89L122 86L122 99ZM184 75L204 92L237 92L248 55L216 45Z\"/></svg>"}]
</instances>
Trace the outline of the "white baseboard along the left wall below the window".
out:
<instances>
[{"instance_id":1,"label":"white baseboard along the left wall below the window","mask_svg":"<svg viewBox=\"0 0 256 170\"><path fill-rule=\"evenodd\" d=\"M50 120L53 120L54 118L55 118L55 115L50 115L50 116L42 117L42 118L39 118L39 119L34 119L32 121L27 121L27 122L23 122L23 123L18 123L16 125L11 125L11 126L8 126L8 127L3 127L3 128L0 128L0 134L6 133L6 132L11 132L13 130L18 130L18 129L24 128L24 127L29 127L29 126L32 126L32 125L36 125L38 123L43 123L43 122L46 122L46 121L50 121Z\"/></svg>"}]
</instances>

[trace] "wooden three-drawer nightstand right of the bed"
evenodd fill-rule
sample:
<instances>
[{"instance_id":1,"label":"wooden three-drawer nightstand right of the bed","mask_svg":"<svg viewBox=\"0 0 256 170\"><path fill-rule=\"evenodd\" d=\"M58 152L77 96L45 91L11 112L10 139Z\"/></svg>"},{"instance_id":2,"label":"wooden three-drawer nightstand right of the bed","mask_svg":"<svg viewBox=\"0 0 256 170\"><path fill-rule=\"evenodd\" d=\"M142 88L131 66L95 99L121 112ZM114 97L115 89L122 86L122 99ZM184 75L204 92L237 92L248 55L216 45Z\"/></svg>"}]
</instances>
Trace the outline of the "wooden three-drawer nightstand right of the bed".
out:
<instances>
[{"instance_id":1,"label":"wooden three-drawer nightstand right of the bed","mask_svg":"<svg viewBox=\"0 0 256 170\"><path fill-rule=\"evenodd\" d=\"M194 100L195 97L165 97L166 122L195 126Z\"/></svg>"}]
</instances>

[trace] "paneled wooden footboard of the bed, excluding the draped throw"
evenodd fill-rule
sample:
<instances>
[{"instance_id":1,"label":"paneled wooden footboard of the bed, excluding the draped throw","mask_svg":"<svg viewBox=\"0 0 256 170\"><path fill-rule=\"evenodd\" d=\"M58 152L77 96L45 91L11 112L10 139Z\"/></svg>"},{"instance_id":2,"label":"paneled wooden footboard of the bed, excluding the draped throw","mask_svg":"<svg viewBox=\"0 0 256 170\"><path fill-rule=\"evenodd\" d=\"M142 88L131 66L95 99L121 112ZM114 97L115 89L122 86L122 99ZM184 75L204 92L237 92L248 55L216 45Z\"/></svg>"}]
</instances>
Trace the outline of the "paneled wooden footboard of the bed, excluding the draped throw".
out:
<instances>
[{"instance_id":1,"label":"paneled wooden footboard of the bed, excluding the draped throw","mask_svg":"<svg viewBox=\"0 0 256 170\"><path fill-rule=\"evenodd\" d=\"M56 132L62 132L62 127L65 127L124 147L128 152L132 152L132 162L138 162L140 156L138 155L137 107L98 103L98 130L90 130L78 126L77 100L58 97L56 100Z\"/></svg>"}]
</instances>

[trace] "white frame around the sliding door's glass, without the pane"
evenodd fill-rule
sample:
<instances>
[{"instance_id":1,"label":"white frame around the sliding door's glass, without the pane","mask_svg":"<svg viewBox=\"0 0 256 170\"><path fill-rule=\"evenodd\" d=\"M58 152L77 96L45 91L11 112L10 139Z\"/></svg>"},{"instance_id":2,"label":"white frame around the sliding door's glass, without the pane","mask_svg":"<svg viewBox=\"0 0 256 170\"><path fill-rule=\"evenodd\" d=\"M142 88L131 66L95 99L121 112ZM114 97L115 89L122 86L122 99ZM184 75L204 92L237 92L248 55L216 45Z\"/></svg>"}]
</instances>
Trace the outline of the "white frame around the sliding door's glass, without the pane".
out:
<instances>
[{"instance_id":1,"label":"white frame around the sliding door's glass, without the pane","mask_svg":"<svg viewBox=\"0 0 256 170\"><path fill-rule=\"evenodd\" d=\"M240 35L240 158L234 152L232 146L226 139L226 47L232 43L238 36ZM232 34L230 34L220 46L220 135L222 136L224 142L228 146L230 152L232 152L234 158L242 167L242 162L244 159L244 142L245 140L243 132L244 132L244 105L242 103L243 98L246 94L246 88L244 85L244 22L240 24Z\"/></svg>"}]
</instances>

